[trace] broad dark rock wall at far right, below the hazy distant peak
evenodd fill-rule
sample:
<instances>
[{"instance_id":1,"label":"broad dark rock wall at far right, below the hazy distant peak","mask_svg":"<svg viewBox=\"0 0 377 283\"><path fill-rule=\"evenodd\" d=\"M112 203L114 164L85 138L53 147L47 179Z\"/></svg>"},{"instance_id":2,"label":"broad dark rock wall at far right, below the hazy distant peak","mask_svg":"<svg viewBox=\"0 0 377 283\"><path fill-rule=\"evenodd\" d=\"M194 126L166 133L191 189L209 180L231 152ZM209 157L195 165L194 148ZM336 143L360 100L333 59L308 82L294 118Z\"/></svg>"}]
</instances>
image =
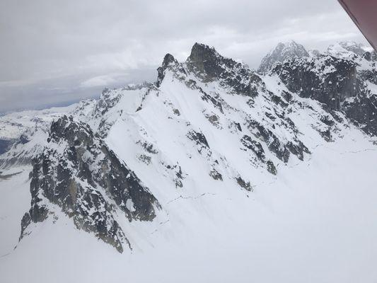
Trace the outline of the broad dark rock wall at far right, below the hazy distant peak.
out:
<instances>
[{"instance_id":1,"label":"broad dark rock wall at far right, below the hazy distant peak","mask_svg":"<svg viewBox=\"0 0 377 283\"><path fill-rule=\"evenodd\" d=\"M369 93L364 81L376 83L376 71L357 71L356 67L352 60L321 56L277 64L272 73L282 79L289 91L318 100L330 113L343 111L364 132L375 135L376 96ZM321 135L331 140L330 132Z\"/></svg>"}]
</instances>

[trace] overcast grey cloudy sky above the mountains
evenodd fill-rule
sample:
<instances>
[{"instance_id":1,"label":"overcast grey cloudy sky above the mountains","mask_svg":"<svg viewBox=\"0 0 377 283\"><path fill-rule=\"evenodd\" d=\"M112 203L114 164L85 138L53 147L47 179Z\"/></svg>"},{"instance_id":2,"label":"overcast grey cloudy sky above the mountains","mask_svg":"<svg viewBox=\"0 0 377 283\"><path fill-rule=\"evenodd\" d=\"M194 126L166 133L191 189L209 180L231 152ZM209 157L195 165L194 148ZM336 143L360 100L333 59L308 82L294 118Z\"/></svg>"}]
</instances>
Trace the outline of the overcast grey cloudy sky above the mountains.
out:
<instances>
[{"instance_id":1,"label":"overcast grey cloudy sky above the mountains","mask_svg":"<svg viewBox=\"0 0 377 283\"><path fill-rule=\"evenodd\" d=\"M1 0L0 112L154 81L195 42L257 68L278 42L365 42L337 0Z\"/></svg>"}]
</instances>

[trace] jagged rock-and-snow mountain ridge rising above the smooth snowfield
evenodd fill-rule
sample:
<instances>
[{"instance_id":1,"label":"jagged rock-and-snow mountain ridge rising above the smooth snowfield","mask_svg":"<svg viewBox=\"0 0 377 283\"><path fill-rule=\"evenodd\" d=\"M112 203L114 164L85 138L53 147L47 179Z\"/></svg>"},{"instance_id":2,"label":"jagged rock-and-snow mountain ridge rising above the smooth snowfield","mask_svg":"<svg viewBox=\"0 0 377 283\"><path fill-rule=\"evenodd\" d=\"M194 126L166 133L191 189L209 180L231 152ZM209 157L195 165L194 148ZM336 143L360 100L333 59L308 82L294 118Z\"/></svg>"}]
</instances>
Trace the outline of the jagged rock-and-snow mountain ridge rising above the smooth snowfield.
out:
<instances>
[{"instance_id":1,"label":"jagged rock-and-snow mountain ridge rising above the smooth snowfield","mask_svg":"<svg viewBox=\"0 0 377 283\"><path fill-rule=\"evenodd\" d=\"M296 42L291 45L301 50ZM37 124L43 125L40 136L32 132L1 156L4 168L30 161L33 166L31 207L21 238L33 231L31 222L45 221L60 209L77 228L122 253L124 246L141 241L127 237L130 223L170 219L170 195L210 195L221 187L250 197L253 178L280 178L280 168L310 159L322 142L339 142L351 129L376 140L377 94L364 73L373 70L373 60L364 54L346 59L305 52L274 62L261 75L195 43L185 62L166 54L156 83L105 89L99 100L83 101L54 117L50 129L49 122ZM102 165L91 166L94 161ZM109 166L122 178L114 179ZM129 172L131 185L123 182ZM139 195L129 198L135 191ZM153 213L139 217L129 207L149 207L146 211ZM161 211L155 214L155 209ZM122 220L119 211L126 214Z\"/></svg>"}]
</instances>

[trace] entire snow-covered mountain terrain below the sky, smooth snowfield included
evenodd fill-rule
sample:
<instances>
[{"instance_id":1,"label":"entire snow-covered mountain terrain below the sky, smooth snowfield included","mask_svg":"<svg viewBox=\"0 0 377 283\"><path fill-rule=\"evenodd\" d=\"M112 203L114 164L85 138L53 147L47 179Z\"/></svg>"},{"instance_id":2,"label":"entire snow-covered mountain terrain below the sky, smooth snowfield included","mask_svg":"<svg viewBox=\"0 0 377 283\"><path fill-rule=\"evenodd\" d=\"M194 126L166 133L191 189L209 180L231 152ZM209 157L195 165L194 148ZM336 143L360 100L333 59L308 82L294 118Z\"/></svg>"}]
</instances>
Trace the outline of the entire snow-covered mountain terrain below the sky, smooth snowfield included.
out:
<instances>
[{"instance_id":1,"label":"entire snow-covered mountain terrain below the sky, smooth snowfield included","mask_svg":"<svg viewBox=\"0 0 377 283\"><path fill-rule=\"evenodd\" d=\"M350 46L313 56L295 42L278 45L263 59L262 75L196 43L185 62L166 54L156 83L105 89L98 100L69 108L1 117L1 137L15 143L0 155L6 194L0 279L30 279L28 259L35 253L44 266L50 265L44 258L62 256L74 268L33 271L35 282L359 278L359 270L344 266L366 259L344 255L344 247L364 241L364 250L377 232L376 57ZM347 223L368 236L347 234ZM315 237L327 241L315 247ZM349 261L318 263L329 249ZM231 263L225 255L233 256ZM180 270L178 258L205 268L182 279L173 272ZM318 275L299 265L303 260L334 268ZM16 262L25 275L8 271ZM88 265L95 276L83 271ZM145 265L151 273L140 271ZM164 265L171 277L158 273ZM269 265L277 272L262 279L257 270ZM292 265L303 270L294 278L284 273ZM364 279L376 273L366 270ZM235 279L234 272L244 277Z\"/></svg>"}]
</instances>

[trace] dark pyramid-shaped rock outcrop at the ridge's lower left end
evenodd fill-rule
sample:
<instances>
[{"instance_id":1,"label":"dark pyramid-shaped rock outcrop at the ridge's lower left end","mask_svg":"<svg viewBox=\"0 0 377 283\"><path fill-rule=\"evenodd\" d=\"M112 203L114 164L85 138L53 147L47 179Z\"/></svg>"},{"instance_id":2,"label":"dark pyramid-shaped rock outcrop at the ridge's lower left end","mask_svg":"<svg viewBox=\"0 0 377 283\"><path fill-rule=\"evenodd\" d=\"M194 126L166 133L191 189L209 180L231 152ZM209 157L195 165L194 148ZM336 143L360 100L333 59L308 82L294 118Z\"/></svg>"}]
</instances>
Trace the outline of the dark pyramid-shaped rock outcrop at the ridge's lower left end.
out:
<instances>
[{"instance_id":1,"label":"dark pyramid-shaped rock outcrop at the ridge's lower left end","mask_svg":"<svg viewBox=\"0 0 377 283\"><path fill-rule=\"evenodd\" d=\"M23 217L22 233L30 221L46 219L52 203L79 229L95 233L122 252L124 243L129 243L115 219L115 209L129 221L151 221L156 216L159 204L151 192L88 125L71 117L52 123L48 145L32 163L32 202Z\"/></svg>"}]
</instances>

